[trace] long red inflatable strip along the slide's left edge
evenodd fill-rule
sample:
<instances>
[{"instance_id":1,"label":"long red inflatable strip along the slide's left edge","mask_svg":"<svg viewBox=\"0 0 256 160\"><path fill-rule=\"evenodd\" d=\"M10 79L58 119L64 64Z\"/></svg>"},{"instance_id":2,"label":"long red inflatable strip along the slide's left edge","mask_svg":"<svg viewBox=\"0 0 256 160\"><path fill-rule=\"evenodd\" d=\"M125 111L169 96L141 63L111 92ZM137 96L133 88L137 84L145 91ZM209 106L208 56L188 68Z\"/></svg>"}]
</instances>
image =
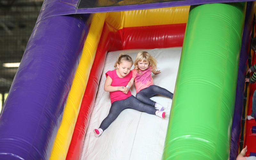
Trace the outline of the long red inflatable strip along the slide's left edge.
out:
<instances>
[{"instance_id":1,"label":"long red inflatable strip along the slide's left edge","mask_svg":"<svg viewBox=\"0 0 256 160\"><path fill-rule=\"evenodd\" d=\"M68 148L68 154L66 157L67 160L79 160L80 158L85 134L90 121L96 93L99 87L100 76L104 67L107 51L109 46L111 46L110 39L108 38L109 34L109 29L105 23L88 79L87 87L84 92L81 108L76 121L76 126L72 135L72 140Z\"/></svg>"}]
</instances>

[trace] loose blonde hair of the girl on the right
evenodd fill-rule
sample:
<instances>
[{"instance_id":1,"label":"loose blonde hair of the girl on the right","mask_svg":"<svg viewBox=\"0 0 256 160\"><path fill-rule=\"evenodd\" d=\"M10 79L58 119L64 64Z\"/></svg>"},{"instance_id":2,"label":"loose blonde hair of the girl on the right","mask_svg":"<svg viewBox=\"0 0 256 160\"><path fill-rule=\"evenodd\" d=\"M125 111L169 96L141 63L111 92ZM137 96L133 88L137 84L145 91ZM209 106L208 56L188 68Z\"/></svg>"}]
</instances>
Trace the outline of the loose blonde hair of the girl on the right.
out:
<instances>
[{"instance_id":1,"label":"loose blonde hair of the girl on the right","mask_svg":"<svg viewBox=\"0 0 256 160\"><path fill-rule=\"evenodd\" d=\"M138 73L140 73L139 68L138 68L138 62L146 62L148 61L148 67L151 67L152 71L155 72L157 69L157 61L155 57L151 56L148 52L146 51L141 51L137 54L136 59L134 61L134 69L137 70ZM140 73L141 74L141 73Z\"/></svg>"}]
</instances>

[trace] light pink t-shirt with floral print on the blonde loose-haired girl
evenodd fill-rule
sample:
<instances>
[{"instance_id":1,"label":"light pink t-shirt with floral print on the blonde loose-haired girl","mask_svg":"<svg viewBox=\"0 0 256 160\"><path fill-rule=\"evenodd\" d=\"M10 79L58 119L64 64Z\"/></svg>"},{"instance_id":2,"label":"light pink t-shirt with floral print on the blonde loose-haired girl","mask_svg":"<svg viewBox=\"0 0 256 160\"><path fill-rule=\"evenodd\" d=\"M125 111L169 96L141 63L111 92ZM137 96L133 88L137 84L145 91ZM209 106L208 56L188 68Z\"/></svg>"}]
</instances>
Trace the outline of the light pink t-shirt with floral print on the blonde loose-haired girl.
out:
<instances>
[{"instance_id":1,"label":"light pink t-shirt with floral print on the blonde loose-haired girl","mask_svg":"<svg viewBox=\"0 0 256 160\"><path fill-rule=\"evenodd\" d=\"M151 76L151 67L148 67L145 70L140 70L139 74L136 69L132 69L132 77L134 78L134 83L136 87L136 93L144 88L148 88L150 85L153 85L153 78Z\"/></svg>"}]
</instances>

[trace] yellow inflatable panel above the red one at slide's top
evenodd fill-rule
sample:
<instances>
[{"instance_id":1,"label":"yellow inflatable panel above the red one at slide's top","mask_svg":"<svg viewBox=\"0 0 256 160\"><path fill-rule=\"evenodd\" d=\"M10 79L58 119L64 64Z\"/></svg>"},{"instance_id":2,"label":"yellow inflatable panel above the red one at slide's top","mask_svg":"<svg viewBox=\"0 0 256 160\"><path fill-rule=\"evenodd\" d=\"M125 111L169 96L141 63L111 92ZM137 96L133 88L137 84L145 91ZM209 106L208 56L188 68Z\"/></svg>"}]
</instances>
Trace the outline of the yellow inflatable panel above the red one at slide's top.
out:
<instances>
[{"instance_id":1,"label":"yellow inflatable panel above the red one at slide's top","mask_svg":"<svg viewBox=\"0 0 256 160\"><path fill-rule=\"evenodd\" d=\"M115 29L187 23L190 6L167 7L122 12L108 12L106 22Z\"/></svg>"}]
</instances>

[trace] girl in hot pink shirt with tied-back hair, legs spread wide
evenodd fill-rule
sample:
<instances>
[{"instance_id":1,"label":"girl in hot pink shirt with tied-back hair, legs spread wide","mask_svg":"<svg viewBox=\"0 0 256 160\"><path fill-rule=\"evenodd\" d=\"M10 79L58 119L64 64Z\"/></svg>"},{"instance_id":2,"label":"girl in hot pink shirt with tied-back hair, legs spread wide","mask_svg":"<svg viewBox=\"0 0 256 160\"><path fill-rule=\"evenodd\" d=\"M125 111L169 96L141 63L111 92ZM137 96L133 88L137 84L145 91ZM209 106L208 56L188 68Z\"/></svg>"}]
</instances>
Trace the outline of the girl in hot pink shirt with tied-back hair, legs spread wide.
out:
<instances>
[{"instance_id":1,"label":"girl in hot pink shirt with tied-back hair, legs spread wide","mask_svg":"<svg viewBox=\"0 0 256 160\"><path fill-rule=\"evenodd\" d=\"M165 116L165 112L159 111L137 100L129 89L125 87L132 78L132 72L130 72L132 64L132 58L129 55L121 53L114 65L115 70L106 73L107 78L104 84L104 90L109 92L111 107L108 116L101 122L99 129L94 129L96 137L99 137L126 108L136 109L162 118Z\"/></svg>"}]
</instances>

